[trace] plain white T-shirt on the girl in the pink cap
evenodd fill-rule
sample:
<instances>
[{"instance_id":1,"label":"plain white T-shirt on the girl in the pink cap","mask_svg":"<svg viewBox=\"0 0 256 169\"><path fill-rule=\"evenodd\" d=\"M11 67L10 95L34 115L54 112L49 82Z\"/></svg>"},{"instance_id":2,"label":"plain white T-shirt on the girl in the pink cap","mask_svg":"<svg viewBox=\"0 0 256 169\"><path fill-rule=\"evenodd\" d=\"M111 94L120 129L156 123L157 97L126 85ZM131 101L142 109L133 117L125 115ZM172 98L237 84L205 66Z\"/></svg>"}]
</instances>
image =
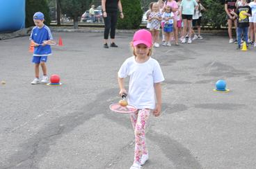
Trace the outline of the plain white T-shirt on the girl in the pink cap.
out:
<instances>
[{"instance_id":1,"label":"plain white T-shirt on the girl in the pink cap","mask_svg":"<svg viewBox=\"0 0 256 169\"><path fill-rule=\"evenodd\" d=\"M118 71L119 78L129 76L128 103L137 109L155 109L154 83L163 82L163 73L157 60L152 57L144 63L138 63L135 57L129 57Z\"/></svg>"}]
</instances>

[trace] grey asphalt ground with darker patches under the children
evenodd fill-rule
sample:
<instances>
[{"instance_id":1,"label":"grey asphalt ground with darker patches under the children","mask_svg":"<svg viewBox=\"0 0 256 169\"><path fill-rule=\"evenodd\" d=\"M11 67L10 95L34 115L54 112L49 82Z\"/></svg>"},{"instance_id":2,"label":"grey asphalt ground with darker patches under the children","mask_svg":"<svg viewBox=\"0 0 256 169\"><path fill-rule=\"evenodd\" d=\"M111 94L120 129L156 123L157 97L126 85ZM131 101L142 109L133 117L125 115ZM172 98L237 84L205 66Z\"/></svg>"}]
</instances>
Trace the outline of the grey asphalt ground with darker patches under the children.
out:
<instances>
[{"instance_id":1,"label":"grey asphalt ground with darker patches under the children","mask_svg":"<svg viewBox=\"0 0 256 169\"><path fill-rule=\"evenodd\" d=\"M129 169L134 132L129 116L109 105L120 100L117 72L131 56L132 33L117 33L118 48L103 48L102 32L53 35L63 39L47 61L58 87L31 85L29 37L0 41L0 168ZM143 169L256 166L256 50L203 37L154 48L166 80L162 114L147 126ZM213 91L221 79L230 92Z\"/></svg>"}]
</instances>

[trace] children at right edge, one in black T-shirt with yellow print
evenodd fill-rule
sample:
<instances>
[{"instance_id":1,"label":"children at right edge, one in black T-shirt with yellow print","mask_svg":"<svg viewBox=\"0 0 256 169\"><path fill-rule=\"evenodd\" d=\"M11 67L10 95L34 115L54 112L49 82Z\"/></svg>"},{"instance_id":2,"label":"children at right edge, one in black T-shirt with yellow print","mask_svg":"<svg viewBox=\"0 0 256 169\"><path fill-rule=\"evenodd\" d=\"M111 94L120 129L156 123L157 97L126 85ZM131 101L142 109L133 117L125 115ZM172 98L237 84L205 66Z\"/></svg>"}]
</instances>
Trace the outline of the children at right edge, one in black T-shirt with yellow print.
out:
<instances>
[{"instance_id":1,"label":"children at right edge, one in black T-shirt with yellow print","mask_svg":"<svg viewBox=\"0 0 256 169\"><path fill-rule=\"evenodd\" d=\"M241 48L242 42L246 42L247 48L248 44L256 47L256 0L225 0L225 12L230 44L237 42L237 49ZM232 22L237 30L237 39L232 38Z\"/></svg>"}]
</instances>

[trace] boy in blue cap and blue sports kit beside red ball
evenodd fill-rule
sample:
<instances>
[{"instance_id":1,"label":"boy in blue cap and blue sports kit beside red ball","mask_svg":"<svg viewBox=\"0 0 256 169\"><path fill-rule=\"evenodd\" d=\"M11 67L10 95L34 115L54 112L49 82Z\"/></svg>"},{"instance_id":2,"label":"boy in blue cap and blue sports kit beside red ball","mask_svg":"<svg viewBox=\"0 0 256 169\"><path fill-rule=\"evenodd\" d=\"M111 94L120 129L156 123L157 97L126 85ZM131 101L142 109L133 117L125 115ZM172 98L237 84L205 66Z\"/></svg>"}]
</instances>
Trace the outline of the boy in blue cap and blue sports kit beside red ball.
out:
<instances>
[{"instance_id":1,"label":"boy in blue cap and blue sports kit beside red ball","mask_svg":"<svg viewBox=\"0 0 256 169\"><path fill-rule=\"evenodd\" d=\"M51 30L44 24L44 14L42 12L35 12L33 15L33 21L35 26L33 27L30 35L30 40L34 44L34 53L32 62L35 63L35 79L31 84L39 84L39 66L42 67L42 83L47 83L47 56L51 55L51 46L47 45L53 42Z\"/></svg>"}]
</instances>

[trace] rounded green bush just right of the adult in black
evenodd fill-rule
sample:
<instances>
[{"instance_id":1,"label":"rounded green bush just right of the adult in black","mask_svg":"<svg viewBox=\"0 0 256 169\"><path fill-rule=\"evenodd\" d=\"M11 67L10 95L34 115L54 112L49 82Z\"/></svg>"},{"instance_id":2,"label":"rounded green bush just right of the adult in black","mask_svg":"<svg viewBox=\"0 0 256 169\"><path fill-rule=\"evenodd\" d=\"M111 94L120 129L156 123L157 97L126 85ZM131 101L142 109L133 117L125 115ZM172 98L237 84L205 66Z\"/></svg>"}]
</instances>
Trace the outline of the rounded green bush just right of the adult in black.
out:
<instances>
[{"instance_id":1,"label":"rounded green bush just right of the adult in black","mask_svg":"<svg viewBox=\"0 0 256 169\"><path fill-rule=\"evenodd\" d=\"M125 17L124 19L118 18L117 28L138 29L143 16L141 0L122 0L122 12Z\"/></svg>"}]
</instances>

